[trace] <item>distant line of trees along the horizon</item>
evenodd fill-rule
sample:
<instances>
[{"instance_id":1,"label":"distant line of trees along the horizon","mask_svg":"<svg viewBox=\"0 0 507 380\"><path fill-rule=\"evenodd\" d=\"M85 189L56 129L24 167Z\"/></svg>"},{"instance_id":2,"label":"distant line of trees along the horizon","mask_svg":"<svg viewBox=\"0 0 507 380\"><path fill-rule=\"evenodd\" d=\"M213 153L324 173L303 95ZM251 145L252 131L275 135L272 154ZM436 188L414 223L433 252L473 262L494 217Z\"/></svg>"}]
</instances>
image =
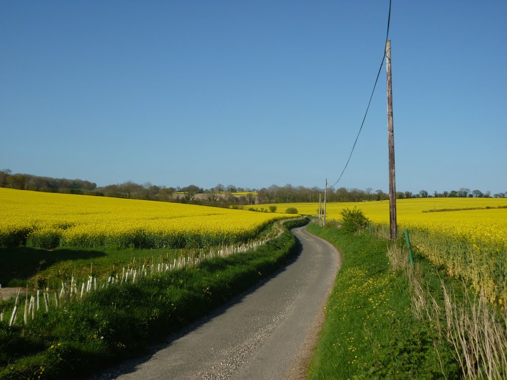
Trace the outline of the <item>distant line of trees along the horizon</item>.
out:
<instances>
[{"instance_id":1,"label":"distant line of trees along the horizon","mask_svg":"<svg viewBox=\"0 0 507 380\"><path fill-rule=\"evenodd\" d=\"M194 184L180 187L166 187L154 185L151 182L139 184L126 181L118 184L97 186L94 182L81 179L51 178L31 174L13 174L11 170L0 170L0 186L20 190L32 190L50 193L83 194L103 197L143 199L162 202L180 202L217 207L237 207L267 203L306 203L324 200L324 189L317 186L285 186L271 185L261 189L237 187L219 183L212 188L204 189ZM243 193L243 194L233 194ZM461 187L451 190L429 194L425 190L413 194L412 192L397 192L397 199L404 198L490 198L491 192L482 192L478 189L470 191ZM507 192L497 193L494 198L506 198ZM389 195L382 190L367 187L366 189L328 187L326 198L328 202L364 202L388 200Z\"/></svg>"}]
</instances>

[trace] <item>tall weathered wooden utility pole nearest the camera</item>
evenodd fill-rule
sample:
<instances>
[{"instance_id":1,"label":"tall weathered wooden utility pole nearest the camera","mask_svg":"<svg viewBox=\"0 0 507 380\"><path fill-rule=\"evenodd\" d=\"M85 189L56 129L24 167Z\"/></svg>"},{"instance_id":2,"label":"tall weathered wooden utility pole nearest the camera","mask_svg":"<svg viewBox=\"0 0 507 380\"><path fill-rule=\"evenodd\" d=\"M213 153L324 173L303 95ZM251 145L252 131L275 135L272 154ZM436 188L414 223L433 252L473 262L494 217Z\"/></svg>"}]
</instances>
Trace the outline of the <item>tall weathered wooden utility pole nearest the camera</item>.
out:
<instances>
[{"instance_id":1,"label":"tall weathered wooden utility pole nearest the camera","mask_svg":"<svg viewBox=\"0 0 507 380\"><path fill-rule=\"evenodd\" d=\"M391 40L385 44L387 67L387 137L389 144L389 225L391 239L398 235L396 225L396 177L394 175L394 131L392 123Z\"/></svg>"}]
</instances>

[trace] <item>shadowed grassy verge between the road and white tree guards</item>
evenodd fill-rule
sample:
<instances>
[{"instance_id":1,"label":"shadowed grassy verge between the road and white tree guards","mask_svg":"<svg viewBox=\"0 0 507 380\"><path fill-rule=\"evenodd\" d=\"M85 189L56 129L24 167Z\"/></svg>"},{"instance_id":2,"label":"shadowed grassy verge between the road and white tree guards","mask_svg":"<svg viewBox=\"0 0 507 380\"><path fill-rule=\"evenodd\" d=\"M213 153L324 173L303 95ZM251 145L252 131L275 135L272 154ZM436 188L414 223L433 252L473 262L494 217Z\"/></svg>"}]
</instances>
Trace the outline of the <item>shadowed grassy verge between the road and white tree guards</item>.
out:
<instances>
[{"instance_id":1,"label":"shadowed grassy verge between the road and white tree guards","mask_svg":"<svg viewBox=\"0 0 507 380\"><path fill-rule=\"evenodd\" d=\"M256 251L88 293L81 302L38 314L26 326L3 322L0 378L75 377L139 354L274 273L298 249L286 231Z\"/></svg>"}]
</instances>

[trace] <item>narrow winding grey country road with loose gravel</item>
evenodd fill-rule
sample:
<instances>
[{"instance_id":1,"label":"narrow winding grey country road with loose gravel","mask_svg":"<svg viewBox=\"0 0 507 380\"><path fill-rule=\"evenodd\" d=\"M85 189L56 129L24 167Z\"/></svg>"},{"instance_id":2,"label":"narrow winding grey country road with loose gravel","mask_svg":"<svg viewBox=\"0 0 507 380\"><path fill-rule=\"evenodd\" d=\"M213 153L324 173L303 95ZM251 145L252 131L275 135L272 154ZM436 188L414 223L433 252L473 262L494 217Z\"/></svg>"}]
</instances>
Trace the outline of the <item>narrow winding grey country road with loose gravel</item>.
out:
<instances>
[{"instance_id":1,"label":"narrow winding grey country road with loose gravel","mask_svg":"<svg viewBox=\"0 0 507 380\"><path fill-rule=\"evenodd\" d=\"M292 230L298 257L153 354L93 378L303 379L341 258L329 243Z\"/></svg>"}]
</instances>

